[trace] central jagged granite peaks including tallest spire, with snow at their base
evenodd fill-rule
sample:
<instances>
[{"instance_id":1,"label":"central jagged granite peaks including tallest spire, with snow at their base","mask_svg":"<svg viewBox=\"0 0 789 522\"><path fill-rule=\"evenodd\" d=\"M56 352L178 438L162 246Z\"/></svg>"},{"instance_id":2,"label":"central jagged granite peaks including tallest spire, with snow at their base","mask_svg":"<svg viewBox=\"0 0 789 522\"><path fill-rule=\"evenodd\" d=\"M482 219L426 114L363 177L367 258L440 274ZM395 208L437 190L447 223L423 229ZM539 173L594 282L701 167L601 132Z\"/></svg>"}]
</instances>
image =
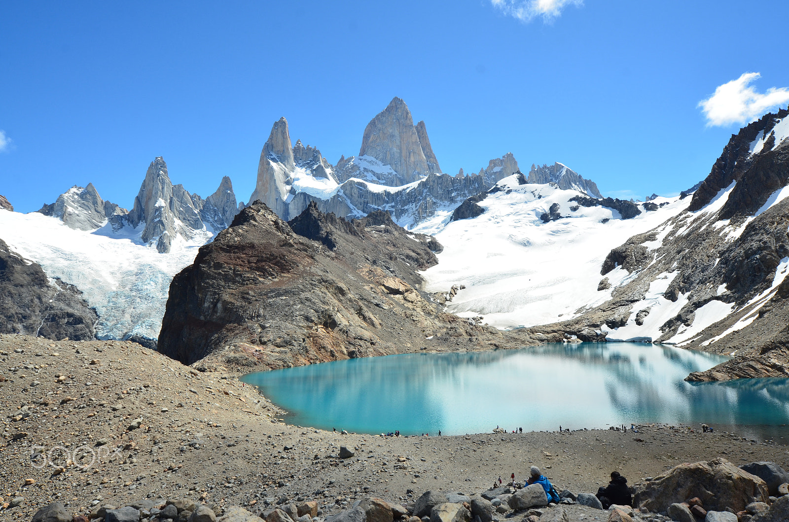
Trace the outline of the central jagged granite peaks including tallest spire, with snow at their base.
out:
<instances>
[{"instance_id":1,"label":"central jagged granite peaks including tallest spire, with snow at their base","mask_svg":"<svg viewBox=\"0 0 789 522\"><path fill-rule=\"evenodd\" d=\"M257 171L250 201L260 199L283 219L301 214L314 201L320 211L344 218L361 218L372 211L389 211L398 225L432 233L441 229L466 198L484 192L518 170L511 153L494 158L479 173L441 173L424 121L413 117L402 99L394 98L368 123L359 155L344 155L331 166L320 151L291 145L284 117L271 129ZM554 182L600 197L593 181L556 163L533 166L529 179Z\"/></svg>"}]
</instances>

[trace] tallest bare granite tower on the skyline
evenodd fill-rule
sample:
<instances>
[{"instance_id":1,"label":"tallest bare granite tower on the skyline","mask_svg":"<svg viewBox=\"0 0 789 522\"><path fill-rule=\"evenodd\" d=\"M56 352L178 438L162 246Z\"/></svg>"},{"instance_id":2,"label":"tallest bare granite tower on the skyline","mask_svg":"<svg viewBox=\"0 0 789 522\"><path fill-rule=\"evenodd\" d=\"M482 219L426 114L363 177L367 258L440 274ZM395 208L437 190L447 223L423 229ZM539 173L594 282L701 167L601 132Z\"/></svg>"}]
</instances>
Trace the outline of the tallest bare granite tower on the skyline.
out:
<instances>
[{"instance_id":1,"label":"tallest bare granite tower on the skyline","mask_svg":"<svg viewBox=\"0 0 789 522\"><path fill-rule=\"evenodd\" d=\"M424 136L426 139L426 131ZM429 145L430 142L427 143ZM432 148L430 153L432 155ZM387 183L393 187L417 181L430 173L411 111L399 98L392 99L387 108L367 124L359 155L372 156L383 165L391 166L398 175L398 179ZM436 156L432 155L432 158L435 160Z\"/></svg>"}]
</instances>

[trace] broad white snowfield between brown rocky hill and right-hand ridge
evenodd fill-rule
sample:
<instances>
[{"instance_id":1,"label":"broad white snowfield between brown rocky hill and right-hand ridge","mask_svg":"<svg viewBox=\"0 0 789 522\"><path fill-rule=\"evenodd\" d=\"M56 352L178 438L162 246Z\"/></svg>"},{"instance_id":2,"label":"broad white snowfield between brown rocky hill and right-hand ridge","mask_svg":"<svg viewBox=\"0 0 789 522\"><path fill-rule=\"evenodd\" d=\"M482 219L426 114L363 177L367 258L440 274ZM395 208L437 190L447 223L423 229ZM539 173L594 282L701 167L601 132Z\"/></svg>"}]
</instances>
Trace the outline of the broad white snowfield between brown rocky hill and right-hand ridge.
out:
<instances>
[{"instance_id":1,"label":"broad white snowfield between brown rocky hill and right-hand ridge","mask_svg":"<svg viewBox=\"0 0 789 522\"><path fill-rule=\"evenodd\" d=\"M649 203L593 199L555 183L529 183L517 173L463 203L436 233L443 252L423 274L425 289L465 285L447 311L482 316L499 328L570 319L609 300L611 287L627 277L622 271L608 287L599 284L611 248L688 203L679 197Z\"/></svg>"}]
</instances>

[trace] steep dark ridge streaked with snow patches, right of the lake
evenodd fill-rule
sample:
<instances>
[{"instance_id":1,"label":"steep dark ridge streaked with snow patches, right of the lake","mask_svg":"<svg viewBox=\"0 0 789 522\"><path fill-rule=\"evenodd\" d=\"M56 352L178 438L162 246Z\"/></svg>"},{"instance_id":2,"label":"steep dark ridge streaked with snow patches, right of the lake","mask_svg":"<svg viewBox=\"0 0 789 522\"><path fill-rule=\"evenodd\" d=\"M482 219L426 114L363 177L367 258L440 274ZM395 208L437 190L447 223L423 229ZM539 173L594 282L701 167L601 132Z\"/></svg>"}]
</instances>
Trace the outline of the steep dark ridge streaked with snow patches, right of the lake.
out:
<instances>
[{"instance_id":1,"label":"steep dark ridge streaked with snow patches, right of the lake","mask_svg":"<svg viewBox=\"0 0 789 522\"><path fill-rule=\"evenodd\" d=\"M534 331L735 356L691 380L789 375L789 140L774 130L787 116L741 129L686 211L611 250L600 289L623 282L611 300Z\"/></svg>"}]
</instances>

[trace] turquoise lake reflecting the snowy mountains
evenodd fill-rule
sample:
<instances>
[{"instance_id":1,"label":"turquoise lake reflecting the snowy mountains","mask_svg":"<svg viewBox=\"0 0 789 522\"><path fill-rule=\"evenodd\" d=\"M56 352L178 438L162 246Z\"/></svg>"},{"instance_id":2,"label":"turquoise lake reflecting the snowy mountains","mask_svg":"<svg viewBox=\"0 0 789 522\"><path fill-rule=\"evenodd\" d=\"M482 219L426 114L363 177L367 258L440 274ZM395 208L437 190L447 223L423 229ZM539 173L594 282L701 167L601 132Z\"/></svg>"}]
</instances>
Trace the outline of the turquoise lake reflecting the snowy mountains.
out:
<instances>
[{"instance_id":1,"label":"turquoise lake reflecting the snowy mountains","mask_svg":"<svg viewBox=\"0 0 789 522\"><path fill-rule=\"evenodd\" d=\"M667 345L554 344L341 360L242 380L289 412L288 423L369 434L789 423L789 379L682 380L726 359Z\"/></svg>"}]
</instances>

